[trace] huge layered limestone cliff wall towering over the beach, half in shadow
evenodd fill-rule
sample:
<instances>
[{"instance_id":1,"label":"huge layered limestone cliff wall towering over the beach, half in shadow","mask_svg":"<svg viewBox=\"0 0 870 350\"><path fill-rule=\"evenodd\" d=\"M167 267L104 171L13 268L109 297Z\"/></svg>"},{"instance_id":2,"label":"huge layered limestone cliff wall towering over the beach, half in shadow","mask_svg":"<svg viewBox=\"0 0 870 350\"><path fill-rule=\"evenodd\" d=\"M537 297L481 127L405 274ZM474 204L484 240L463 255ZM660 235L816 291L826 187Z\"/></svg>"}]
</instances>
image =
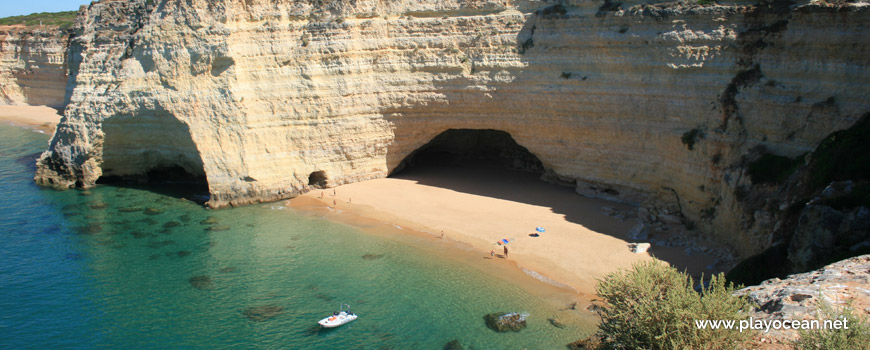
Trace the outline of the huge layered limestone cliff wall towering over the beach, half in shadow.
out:
<instances>
[{"instance_id":1,"label":"huge layered limestone cliff wall towering over the beach, half in shadow","mask_svg":"<svg viewBox=\"0 0 870 350\"><path fill-rule=\"evenodd\" d=\"M739 198L746 155L803 154L870 111L868 20L865 3L791 1L103 1L73 28L36 180L175 166L222 207L496 129L549 179L754 253L770 225Z\"/></svg>"}]
</instances>

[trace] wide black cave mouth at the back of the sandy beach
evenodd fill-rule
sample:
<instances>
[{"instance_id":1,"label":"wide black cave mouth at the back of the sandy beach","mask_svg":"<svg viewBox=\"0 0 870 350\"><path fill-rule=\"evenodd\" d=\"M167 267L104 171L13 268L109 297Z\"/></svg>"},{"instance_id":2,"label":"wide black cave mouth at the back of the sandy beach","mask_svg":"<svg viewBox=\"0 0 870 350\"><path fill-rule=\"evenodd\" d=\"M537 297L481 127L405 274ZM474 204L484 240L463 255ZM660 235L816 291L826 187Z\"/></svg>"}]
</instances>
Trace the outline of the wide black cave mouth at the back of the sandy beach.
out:
<instances>
[{"instance_id":1,"label":"wide black cave mouth at the back of the sandy beach","mask_svg":"<svg viewBox=\"0 0 870 350\"><path fill-rule=\"evenodd\" d=\"M544 166L538 157L517 144L507 132L493 129L449 129L405 157L390 176L420 166L469 164L544 173Z\"/></svg>"}]
</instances>

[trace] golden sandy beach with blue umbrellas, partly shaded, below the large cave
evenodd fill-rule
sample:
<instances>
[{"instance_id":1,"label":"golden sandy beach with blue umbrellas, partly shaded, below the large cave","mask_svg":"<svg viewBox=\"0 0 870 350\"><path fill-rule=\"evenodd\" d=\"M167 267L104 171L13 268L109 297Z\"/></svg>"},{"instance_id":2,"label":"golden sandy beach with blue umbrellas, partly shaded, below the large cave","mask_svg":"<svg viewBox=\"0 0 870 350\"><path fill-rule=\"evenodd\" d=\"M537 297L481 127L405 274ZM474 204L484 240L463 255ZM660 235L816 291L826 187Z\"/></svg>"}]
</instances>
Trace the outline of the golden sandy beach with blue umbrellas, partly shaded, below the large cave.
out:
<instances>
[{"instance_id":1,"label":"golden sandy beach with blue umbrellas, partly shaded, below the large cave","mask_svg":"<svg viewBox=\"0 0 870 350\"><path fill-rule=\"evenodd\" d=\"M333 195L333 193L335 193ZM594 293L596 279L633 263L652 259L629 251L626 235L634 219L606 215L634 208L586 198L571 187L545 183L536 175L486 165L419 166L398 176L311 191L291 201L296 208L333 207L365 218L416 230L432 239L464 242L493 261L512 261L526 274L552 284ZM546 232L538 237L537 227ZM508 239L504 259L500 239ZM713 260L679 249L650 251L679 269L704 271Z\"/></svg>"}]
</instances>

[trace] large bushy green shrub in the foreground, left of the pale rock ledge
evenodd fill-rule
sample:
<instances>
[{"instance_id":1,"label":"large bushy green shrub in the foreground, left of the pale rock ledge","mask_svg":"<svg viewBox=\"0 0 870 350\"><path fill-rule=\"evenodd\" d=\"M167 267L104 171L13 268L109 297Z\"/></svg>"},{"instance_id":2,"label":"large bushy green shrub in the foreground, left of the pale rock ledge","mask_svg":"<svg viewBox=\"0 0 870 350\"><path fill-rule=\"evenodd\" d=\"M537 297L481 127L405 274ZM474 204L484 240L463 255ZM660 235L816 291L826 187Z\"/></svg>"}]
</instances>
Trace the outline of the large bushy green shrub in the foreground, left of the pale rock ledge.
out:
<instances>
[{"instance_id":1,"label":"large bushy green shrub in the foreground, left of the pale rock ledge","mask_svg":"<svg viewBox=\"0 0 870 350\"><path fill-rule=\"evenodd\" d=\"M751 305L731 295L722 274L695 292L692 278L662 262L635 264L599 281L606 302L598 325L602 349L738 349L750 332L697 329L695 320L742 320ZM738 321L739 322L739 321Z\"/></svg>"}]
</instances>

